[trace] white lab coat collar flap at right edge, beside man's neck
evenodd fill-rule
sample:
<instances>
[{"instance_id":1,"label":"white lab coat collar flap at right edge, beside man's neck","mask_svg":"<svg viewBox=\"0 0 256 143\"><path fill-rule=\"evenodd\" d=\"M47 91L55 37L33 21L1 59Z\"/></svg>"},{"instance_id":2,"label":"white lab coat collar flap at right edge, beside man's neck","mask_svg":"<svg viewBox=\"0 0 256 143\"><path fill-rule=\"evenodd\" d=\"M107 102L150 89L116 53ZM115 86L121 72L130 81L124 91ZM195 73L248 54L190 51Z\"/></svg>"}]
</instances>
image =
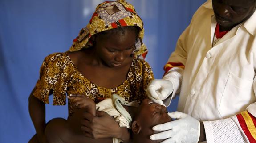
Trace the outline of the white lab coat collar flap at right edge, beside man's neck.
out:
<instances>
[{"instance_id":1,"label":"white lab coat collar flap at right edge, beside man's neck","mask_svg":"<svg viewBox=\"0 0 256 143\"><path fill-rule=\"evenodd\" d=\"M246 28L246 30L253 36L256 35L256 10L252 14L252 16L244 21L242 25Z\"/></svg>"}]
</instances>

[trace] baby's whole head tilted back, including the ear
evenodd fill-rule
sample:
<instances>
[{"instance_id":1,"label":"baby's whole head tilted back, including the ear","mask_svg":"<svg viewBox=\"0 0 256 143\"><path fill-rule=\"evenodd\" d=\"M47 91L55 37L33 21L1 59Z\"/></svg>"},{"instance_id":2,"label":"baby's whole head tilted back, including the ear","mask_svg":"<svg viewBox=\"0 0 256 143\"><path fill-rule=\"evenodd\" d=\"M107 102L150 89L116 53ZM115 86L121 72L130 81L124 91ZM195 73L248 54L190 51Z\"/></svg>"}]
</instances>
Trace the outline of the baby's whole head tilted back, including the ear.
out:
<instances>
[{"instance_id":1,"label":"baby's whole head tilted back, including the ear","mask_svg":"<svg viewBox=\"0 0 256 143\"><path fill-rule=\"evenodd\" d=\"M134 116L131 129L134 143L156 143L150 140L150 135L158 133L152 130L157 124L163 124L171 121L167 114L167 108L153 100L144 99L138 107L138 112ZM160 142L160 140L158 140Z\"/></svg>"}]
</instances>

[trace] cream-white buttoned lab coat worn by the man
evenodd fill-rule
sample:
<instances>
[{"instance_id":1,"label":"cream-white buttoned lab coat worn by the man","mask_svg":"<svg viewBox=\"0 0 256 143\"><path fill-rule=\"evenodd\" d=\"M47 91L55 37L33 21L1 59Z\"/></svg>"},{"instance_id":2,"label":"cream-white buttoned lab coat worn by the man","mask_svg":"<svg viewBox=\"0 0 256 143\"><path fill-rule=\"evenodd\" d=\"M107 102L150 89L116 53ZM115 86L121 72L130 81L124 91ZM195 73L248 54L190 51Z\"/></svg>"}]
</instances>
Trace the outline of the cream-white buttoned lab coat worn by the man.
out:
<instances>
[{"instance_id":1,"label":"cream-white buttoned lab coat worn by the man","mask_svg":"<svg viewBox=\"0 0 256 143\"><path fill-rule=\"evenodd\" d=\"M215 27L208 0L195 12L168 60L185 65L177 110L200 121L244 110L256 117L256 12L212 47Z\"/></svg>"}]
</instances>

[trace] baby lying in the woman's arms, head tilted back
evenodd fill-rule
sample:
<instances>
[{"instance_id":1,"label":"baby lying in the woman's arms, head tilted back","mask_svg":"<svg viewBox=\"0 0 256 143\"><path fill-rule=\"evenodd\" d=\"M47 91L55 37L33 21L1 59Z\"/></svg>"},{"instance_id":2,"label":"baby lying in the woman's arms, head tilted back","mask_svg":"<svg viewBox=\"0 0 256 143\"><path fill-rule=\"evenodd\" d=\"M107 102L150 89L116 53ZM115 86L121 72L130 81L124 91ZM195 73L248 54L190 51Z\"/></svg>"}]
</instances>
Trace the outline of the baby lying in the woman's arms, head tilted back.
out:
<instances>
[{"instance_id":1,"label":"baby lying in the woman's arms, head tilted back","mask_svg":"<svg viewBox=\"0 0 256 143\"><path fill-rule=\"evenodd\" d=\"M58 125L49 126L46 133L49 142L56 142L61 140L64 143L120 143L120 139L91 139L85 137L81 131L81 124L74 119L77 115L82 115L83 112L89 112L96 116L96 108L99 111L104 111L112 116L120 127L129 128L131 131L132 143L153 143L150 140L150 135L156 133L152 127L157 124L163 124L171 121L171 117L167 114L166 107L154 103L153 100L144 99L138 106L137 101L128 103L122 97L114 94L111 98L105 99L95 105L94 101L84 95L68 96L73 100L71 106L75 106L77 110L74 116L70 116L67 123L62 127ZM72 124L72 126L70 126ZM74 125L75 124L75 125ZM58 131L57 131L58 130ZM61 130L61 131L60 131ZM161 140L158 140L159 142ZM155 142L155 141L154 141Z\"/></svg>"}]
</instances>

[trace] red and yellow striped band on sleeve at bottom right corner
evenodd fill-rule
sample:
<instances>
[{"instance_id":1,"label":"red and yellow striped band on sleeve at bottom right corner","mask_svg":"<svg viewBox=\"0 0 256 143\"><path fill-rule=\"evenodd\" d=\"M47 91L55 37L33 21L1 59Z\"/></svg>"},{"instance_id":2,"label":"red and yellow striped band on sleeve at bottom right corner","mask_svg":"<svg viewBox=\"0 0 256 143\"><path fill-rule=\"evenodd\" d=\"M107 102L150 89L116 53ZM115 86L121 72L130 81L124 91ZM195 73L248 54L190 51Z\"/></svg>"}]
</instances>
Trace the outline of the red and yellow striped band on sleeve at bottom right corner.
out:
<instances>
[{"instance_id":1,"label":"red and yellow striped band on sleeve at bottom right corner","mask_svg":"<svg viewBox=\"0 0 256 143\"><path fill-rule=\"evenodd\" d=\"M256 143L256 118L247 111L241 112L236 117L250 143Z\"/></svg>"}]
</instances>

